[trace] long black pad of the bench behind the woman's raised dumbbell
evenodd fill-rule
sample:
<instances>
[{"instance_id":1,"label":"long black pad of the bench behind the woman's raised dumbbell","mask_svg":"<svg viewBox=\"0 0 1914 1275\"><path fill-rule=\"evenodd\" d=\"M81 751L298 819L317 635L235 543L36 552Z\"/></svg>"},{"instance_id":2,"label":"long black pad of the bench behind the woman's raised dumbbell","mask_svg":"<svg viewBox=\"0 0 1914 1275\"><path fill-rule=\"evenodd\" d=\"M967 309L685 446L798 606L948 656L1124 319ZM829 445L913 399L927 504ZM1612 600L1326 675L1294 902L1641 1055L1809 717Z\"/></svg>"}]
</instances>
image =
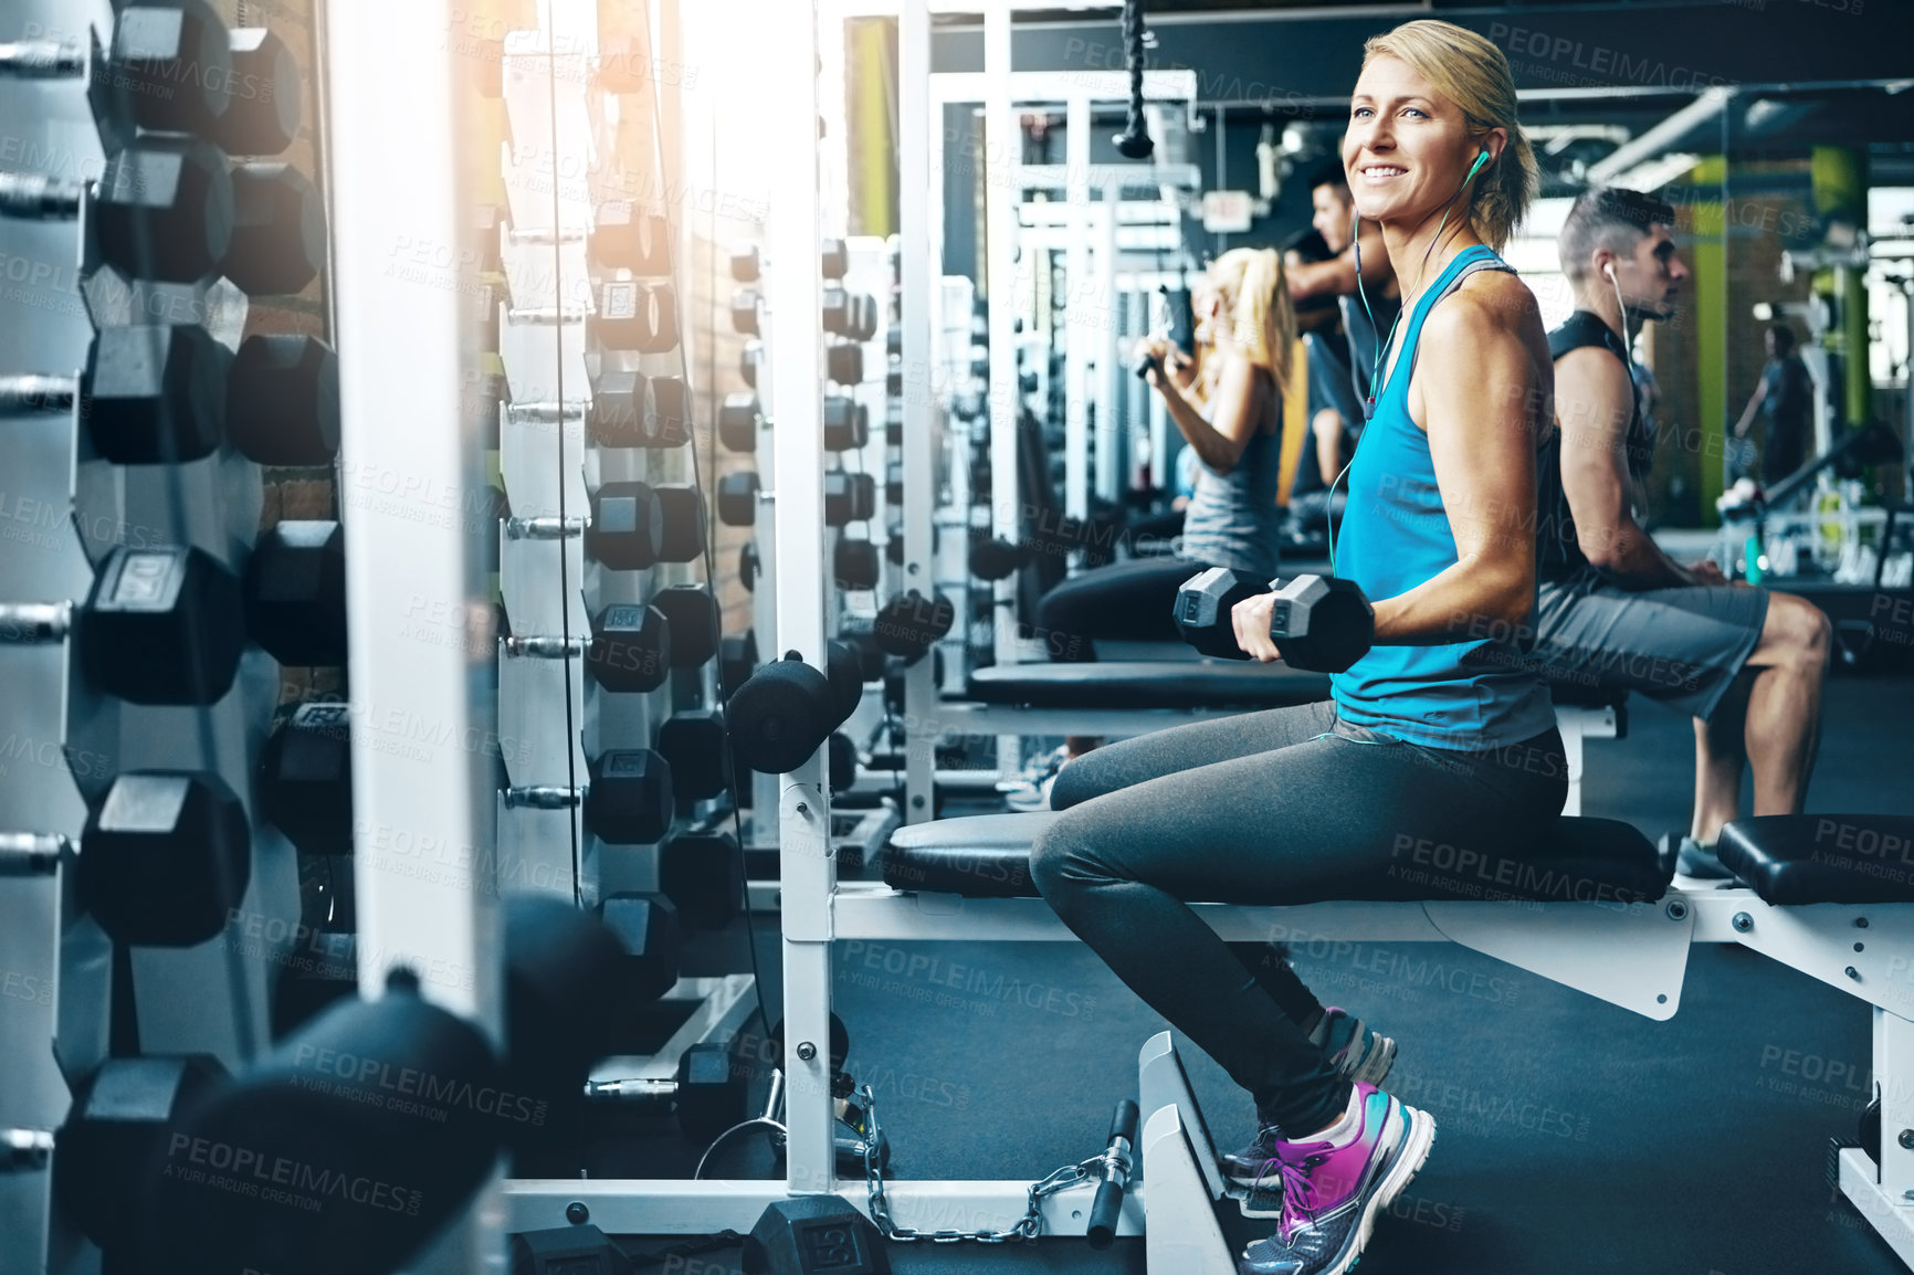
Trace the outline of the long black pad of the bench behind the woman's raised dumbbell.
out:
<instances>
[{"instance_id":1,"label":"long black pad of the bench behind the woman's raised dumbbell","mask_svg":"<svg viewBox=\"0 0 1914 1275\"><path fill-rule=\"evenodd\" d=\"M1286 708L1328 699L1328 674L1236 660L995 664L968 695L1020 708Z\"/></svg>"}]
</instances>

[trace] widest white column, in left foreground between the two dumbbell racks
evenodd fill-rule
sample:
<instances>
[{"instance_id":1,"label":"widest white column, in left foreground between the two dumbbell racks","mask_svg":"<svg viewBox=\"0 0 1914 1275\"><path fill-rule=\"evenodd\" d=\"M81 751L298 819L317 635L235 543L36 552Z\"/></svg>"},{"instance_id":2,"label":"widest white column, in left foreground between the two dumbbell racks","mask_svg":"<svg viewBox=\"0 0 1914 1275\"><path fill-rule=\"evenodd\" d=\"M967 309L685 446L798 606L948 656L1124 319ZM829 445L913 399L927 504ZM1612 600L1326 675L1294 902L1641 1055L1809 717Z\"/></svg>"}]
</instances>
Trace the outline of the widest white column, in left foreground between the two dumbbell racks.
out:
<instances>
[{"instance_id":1,"label":"widest white column, in left foreground between the two dumbbell racks","mask_svg":"<svg viewBox=\"0 0 1914 1275\"><path fill-rule=\"evenodd\" d=\"M448 0L402 6L325 6L325 42L350 50L329 65L333 278L341 360L341 463L350 477L390 475L400 492L354 507L346 538L346 615L352 670L352 802L358 827L415 844L494 846L492 720L482 685L492 647L482 523L419 517L425 502L484 492L482 442L461 419L459 391L477 369L477 341L461 293L385 272L394 243L442 243L459 260L471 234L469 153L454 109L461 67L446 50ZM394 191L406 191L394 199ZM404 429L392 429L404 421ZM425 599L452 599L467 639L394 639L394 616ZM478 741L478 743L473 743ZM383 747L381 747L383 745ZM400 747L404 745L404 747ZM500 1038L500 942L490 883L448 884L354 863L360 992L385 994L387 974L412 967L421 994ZM412 1269L486 1269L496 1242L480 1198ZM490 1239L488 1239L490 1235Z\"/></svg>"}]
</instances>

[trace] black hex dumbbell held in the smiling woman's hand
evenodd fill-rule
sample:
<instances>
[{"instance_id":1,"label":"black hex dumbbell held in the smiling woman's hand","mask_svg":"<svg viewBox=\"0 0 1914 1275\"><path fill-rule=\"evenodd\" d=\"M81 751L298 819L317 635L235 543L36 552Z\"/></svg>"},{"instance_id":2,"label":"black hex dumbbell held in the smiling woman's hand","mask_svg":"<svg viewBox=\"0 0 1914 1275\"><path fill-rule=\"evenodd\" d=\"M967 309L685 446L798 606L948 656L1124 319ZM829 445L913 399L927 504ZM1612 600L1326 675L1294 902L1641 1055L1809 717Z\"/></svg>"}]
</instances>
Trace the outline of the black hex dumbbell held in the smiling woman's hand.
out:
<instances>
[{"instance_id":1,"label":"black hex dumbbell held in the smiling woman's hand","mask_svg":"<svg viewBox=\"0 0 1914 1275\"><path fill-rule=\"evenodd\" d=\"M1236 645L1231 611L1236 603L1275 592L1269 639L1290 668L1344 672L1369 653L1376 613L1353 580L1296 576L1254 584L1227 567L1212 567L1177 590L1177 632L1202 655L1250 659Z\"/></svg>"}]
</instances>

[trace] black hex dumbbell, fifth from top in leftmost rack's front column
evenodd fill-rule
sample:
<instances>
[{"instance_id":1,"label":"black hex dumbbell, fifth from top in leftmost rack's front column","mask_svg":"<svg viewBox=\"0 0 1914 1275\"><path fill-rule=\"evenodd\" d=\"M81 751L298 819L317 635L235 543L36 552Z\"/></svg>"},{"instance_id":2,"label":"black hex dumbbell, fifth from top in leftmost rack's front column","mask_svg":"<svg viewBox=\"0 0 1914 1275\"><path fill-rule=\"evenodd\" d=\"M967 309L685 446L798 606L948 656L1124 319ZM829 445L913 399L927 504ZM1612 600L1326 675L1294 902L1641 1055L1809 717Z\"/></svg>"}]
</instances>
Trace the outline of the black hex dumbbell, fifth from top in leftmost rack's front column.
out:
<instances>
[{"instance_id":1,"label":"black hex dumbbell, fifth from top in leftmost rack's front column","mask_svg":"<svg viewBox=\"0 0 1914 1275\"><path fill-rule=\"evenodd\" d=\"M115 942L203 944L226 928L251 879L245 806L218 775L121 772L86 816L80 906Z\"/></svg>"}]
</instances>

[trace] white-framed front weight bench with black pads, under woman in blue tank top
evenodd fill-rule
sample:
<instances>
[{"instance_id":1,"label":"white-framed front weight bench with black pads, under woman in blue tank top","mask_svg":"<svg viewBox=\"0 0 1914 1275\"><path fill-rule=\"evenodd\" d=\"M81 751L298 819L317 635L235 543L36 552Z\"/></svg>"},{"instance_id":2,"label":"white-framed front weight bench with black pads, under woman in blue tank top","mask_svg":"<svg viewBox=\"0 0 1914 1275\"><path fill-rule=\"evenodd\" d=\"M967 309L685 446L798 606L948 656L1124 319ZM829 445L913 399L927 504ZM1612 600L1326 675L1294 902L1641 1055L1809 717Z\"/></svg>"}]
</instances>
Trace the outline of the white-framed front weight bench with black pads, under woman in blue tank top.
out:
<instances>
[{"instance_id":1,"label":"white-framed front weight bench with black pads, under woman in blue tank top","mask_svg":"<svg viewBox=\"0 0 1914 1275\"><path fill-rule=\"evenodd\" d=\"M1060 814L980 816L900 827L884 884L840 884L838 938L1066 940L1030 883L1030 846ZM1455 942L1665 1020L1680 1007L1688 948L1734 942L1860 997L1874 1015L1880 1130L1841 1147L1841 1193L1914 1267L1914 817L1786 816L1730 823L1721 860L1746 886L1682 888L1671 863L1627 823L1564 816L1529 848L1510 894L1460 900L1434 888L1347 883L1334 902L1296 907L1194 904L1233 942ZM1585 902L1558 902L1564 888ZM1414 898L1414 894L1426 898ZM882 921L888 915L888 923ZM1148 1269L1231 1275L1215 1208L1225 1181L1169 1034L1139 1059L1146 1187L1124 1202L1120 1233L1146 1237ZM1903 1131L1906 1131L1903 1141ZM1047 1210L1045 1227L1079 1233L1087 1198ZM1076 1212L1076 1231L1070 1225Z\"/></svg>"}]
</instances>

